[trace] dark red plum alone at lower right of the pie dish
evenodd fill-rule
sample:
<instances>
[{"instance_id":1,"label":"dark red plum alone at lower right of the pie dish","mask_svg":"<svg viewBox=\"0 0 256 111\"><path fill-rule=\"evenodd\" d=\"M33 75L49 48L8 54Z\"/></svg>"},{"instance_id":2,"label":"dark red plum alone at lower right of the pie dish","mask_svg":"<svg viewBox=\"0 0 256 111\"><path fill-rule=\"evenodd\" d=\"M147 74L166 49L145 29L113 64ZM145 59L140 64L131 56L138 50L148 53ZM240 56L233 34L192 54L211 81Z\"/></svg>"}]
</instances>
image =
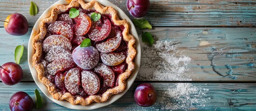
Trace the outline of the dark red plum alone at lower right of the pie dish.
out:
<instances>
[{"instance_id":1,"label":"dark red plum alone at lower right of the pie dish","mask_svg":"<svg viewBox=\"0 0 256 111\"><path fill-rule=\"evenodd\" d=\"M140 84L134 92L134 100L140 106L152 106L157 100L156 90L149 83Z\"/></svg>"}]
</instances>

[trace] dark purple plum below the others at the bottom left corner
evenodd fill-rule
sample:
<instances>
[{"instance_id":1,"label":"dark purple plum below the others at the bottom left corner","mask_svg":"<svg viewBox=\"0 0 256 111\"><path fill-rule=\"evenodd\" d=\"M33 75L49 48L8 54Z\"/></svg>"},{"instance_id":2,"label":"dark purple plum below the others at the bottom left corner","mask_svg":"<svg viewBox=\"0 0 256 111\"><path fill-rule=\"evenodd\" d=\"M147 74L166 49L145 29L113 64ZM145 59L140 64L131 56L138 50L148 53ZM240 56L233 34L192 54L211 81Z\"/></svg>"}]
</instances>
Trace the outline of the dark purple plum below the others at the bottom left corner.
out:
<instances>
[{"instance_id":1,"label":"dark purple plum below the others at the bottom left corner","mask_svg":"<svg viewBox=\"0 0 256 111\"><path fill-rule=\"evenodd\" d=\"M11 111L32 111L33 106L33 99L25 92L14 93L9 101Z\"/></svg>"}]
</instances>

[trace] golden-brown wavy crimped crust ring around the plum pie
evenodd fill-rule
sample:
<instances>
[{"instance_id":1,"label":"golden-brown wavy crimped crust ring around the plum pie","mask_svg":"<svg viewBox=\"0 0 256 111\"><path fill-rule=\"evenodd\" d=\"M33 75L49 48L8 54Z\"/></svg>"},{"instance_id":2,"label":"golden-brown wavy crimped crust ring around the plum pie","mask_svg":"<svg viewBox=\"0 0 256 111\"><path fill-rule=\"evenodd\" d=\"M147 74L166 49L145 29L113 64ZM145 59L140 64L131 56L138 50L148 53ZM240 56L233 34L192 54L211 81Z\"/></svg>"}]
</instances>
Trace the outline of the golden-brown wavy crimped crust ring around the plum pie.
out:
<instances>
[{"instance_id":1,"label":"golden-brown wavy crimped crust ring around the plum pie","mask_svg":"<svg viewBox=\"0 0 256 111\"><path fill-rule=\"evenodd\" d=\"M101 14L111 14L111 19L113 20L115 25L123 25L124 31L123 39L127 43L127 58L125 62L128 64L127 69L124 73L120 74L118 79L118 86L112 87L108 89L106 92L102 93L101 95L91 95L87 98L76 97L74 98L69 92L67 93L60 93L57 91L56 86L54 83L50 82L48 78L44 76L45 69L41 62L42 56L42 41L46 36L47 28L46 25L56 21L58 14L62 12L66 12L71 7L82 7L85 10L94 9ZM111 6L102 6L97 1L90 1L89 3L85 3L83 0L72 0L69 5L58 5L55 6L51 11L51 16L46 19L42 19L40 22L40 32L33 37L33 47L35 49L35 54L33 55L33 66L35 67L38 79L48 87L48 92L53 96L56 100L67 100L72 105L90 105L93 102L101 103L105 102L114 94L121 93L125 90L126 87L126 79L132 74L133 70L135 69L135 64L133 62L134 57L136 56L136 49L135 49L135 38L129 33L130 25L126 20L120 20L118 17L117 11Z\"/></svg>"}]
</instances>

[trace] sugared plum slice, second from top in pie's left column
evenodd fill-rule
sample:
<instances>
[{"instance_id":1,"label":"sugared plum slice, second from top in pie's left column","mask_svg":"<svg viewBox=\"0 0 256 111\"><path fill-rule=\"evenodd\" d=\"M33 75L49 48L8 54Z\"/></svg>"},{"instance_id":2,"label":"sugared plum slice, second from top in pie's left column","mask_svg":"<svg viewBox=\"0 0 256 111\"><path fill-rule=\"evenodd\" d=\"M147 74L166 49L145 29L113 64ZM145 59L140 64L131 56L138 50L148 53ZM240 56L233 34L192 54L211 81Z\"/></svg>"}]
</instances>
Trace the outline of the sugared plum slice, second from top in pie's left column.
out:
<instances>
[{"instance_id":1,"label":"sugared plum slice, second from top in pie's left column","mask_svg":"<svg viewBox=\"0 0 256 111\"><path fill-rule=\"evenodd\" d=\"M50 37L47 37L42 43L42 49L45 52L48 52L50 49L56 47L71 50L72 44L70 43L68 38L61 35L52 35Z\"/></svg>"}]
</instances>

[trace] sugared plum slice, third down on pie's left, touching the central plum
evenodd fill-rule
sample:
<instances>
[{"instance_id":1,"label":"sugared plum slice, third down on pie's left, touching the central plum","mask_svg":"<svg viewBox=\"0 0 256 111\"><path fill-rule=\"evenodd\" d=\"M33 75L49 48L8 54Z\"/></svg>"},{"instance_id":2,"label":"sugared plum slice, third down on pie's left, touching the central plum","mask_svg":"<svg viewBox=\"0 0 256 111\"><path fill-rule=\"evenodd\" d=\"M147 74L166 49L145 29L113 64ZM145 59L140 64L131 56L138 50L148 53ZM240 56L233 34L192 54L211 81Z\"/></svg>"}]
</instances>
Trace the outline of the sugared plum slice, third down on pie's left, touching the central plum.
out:
<instances>
[{"instance_id":1,"label":"sugared plum slice, third down on pie's left, touching the central plum","mask_svg":"<svg viewBox=\"0 0 256 111\"><path fill-rule=\"evenodd\" d=\"M72 54L69 50L62 49L60 47L55 47L48 51L48 53L45 55L44 59L47 62L52 62L56 59L67 58L67 57L72 58Z\"/></svg>"}]
</instances>

